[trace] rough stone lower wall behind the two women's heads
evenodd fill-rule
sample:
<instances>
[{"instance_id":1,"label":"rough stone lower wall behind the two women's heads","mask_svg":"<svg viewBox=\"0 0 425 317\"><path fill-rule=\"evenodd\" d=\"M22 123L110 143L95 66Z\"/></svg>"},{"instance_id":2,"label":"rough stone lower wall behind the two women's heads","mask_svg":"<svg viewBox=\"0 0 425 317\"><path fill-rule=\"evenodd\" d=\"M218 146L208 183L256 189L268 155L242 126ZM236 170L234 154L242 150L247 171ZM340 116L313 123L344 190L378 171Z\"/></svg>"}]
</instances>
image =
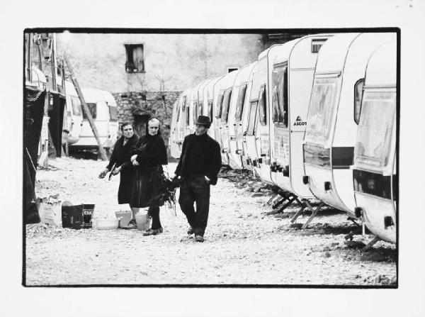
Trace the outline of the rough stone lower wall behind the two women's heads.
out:
<instances>
[{"instance_id":1,"label":"rough stone lower wall behind the two women's heads","mask_svg":"<svg viewBox=\"0 0 425 317\"><path fill-rule=\"evenodd\" d=\"M169 154L169 135L173 104L181 91L132 91L113 94L118 107L118 122L130 121L135 124L138 135L145 133L143 123L150 116L156 116L162 122L162 136ZM118 131L121 135L121 130Z\"/></svg>"}]
</instances>

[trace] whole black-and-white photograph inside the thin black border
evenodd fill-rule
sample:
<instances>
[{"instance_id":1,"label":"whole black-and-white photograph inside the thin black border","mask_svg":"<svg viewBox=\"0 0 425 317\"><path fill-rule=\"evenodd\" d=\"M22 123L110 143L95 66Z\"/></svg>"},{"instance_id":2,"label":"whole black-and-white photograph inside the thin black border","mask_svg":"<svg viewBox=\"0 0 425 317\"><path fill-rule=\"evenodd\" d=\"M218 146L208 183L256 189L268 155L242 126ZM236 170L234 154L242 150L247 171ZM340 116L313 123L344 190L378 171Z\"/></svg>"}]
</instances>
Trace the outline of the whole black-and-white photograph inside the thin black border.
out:
<instances>
[{"instance_id":1,"label":"whole black-and-white photograph inside the thin black border","mask_svg":"<svg viewBox=\"0 0 425 317\"><path fill-rule=\"evenodd\" d=\"M397 30L35 31L23 284L397 287Z\"/></svg>"}]
</instances>

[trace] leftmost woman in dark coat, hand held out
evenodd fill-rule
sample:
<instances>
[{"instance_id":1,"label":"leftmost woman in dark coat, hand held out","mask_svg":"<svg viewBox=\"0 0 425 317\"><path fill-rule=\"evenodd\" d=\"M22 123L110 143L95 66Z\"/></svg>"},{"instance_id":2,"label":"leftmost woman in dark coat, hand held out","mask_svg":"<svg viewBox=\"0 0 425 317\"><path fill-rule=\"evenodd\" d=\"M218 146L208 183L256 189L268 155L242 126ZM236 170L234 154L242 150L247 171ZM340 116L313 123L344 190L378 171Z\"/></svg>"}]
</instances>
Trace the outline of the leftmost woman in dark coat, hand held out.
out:
<instances>
[{"instance_id":1,"label":"leftmost woman in dark coat, hand held out","mask_svg":"<svg viewBox=\"0 0 425 317\"><path fill-rule=\"evenodd\" d=\"M139 137L134 132L134 127L129 121L124 121L121 125L123 135L115 142L111 160L108 166L103 169L99 178L103 178L112 170L112 174L120 174L120 187L118 188L118 204L130 204L131 189L134 180L135 169L130 157L132 148L137 144ZM131 208L130 204L130 208ZM134 217L134 216L133 216Z\"/></svg>"}]
</instances>

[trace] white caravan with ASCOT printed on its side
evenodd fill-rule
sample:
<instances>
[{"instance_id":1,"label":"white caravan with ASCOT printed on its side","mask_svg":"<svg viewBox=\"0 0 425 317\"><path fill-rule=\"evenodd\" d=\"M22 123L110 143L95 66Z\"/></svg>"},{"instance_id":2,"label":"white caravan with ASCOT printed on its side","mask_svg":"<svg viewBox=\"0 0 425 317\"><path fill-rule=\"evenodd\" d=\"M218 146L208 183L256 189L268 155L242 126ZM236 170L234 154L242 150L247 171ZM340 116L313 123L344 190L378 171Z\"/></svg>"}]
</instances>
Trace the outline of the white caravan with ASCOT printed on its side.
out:
<instances>
[{"instance_id":1,"label":"white caravan with ASCOT printed on its side","mask_svg":"<svg viewBox=\"0 0 425 317\"><path fill-rule=\"evenodd\" d=\"M329 35L307 35L268 51L271 179L302 199L313 198L302 183L302 140L319 49Z\"/></svg>"}]
</instances>

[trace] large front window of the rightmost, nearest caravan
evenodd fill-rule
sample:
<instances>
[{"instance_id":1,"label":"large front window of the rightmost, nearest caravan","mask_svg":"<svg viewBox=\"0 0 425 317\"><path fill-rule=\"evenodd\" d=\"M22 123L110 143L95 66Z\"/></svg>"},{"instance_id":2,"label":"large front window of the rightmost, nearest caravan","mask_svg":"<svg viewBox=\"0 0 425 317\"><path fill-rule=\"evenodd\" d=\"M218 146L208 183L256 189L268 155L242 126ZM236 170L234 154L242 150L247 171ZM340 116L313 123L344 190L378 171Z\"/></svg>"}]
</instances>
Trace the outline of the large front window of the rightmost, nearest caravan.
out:
<instances>
[{"instance_id":1,"label":"large front window of the rightmost, nearest caravan","mask_svg":"<svg viewBox=\"0 0 425 317\"><path fill-rule=\"evenodd\" d=\"M354 160L381 170L388 165L395 117L395 91L365 91Z\"/></svg>"}]
</instances>

